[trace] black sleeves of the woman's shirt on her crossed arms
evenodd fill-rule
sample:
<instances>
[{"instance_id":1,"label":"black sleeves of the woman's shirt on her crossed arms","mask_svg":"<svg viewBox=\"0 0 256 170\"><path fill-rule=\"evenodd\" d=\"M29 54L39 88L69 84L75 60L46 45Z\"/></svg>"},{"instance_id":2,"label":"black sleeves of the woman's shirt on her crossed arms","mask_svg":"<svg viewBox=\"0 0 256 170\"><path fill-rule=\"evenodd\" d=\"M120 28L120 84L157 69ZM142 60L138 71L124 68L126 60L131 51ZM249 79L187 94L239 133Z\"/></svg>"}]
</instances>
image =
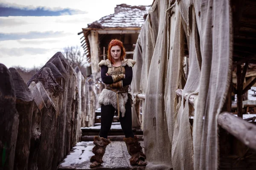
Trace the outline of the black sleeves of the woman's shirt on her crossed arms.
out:
<instances>
[{"instance_id":1,"label":"black sleeves of the woman's shirt on her crossed arms","mask_svg":"<svg viewBox=\"0 0 256 170\"><path fill-rule=\"evenodd\" d=\"M108 66L102 65L101 67L101 78L102 82L105 84L112 84L113 79L112 76L107 76L106 73L108 72ZM128 65L125 65L125 79L122 80L123 87L125 85L130 85L132 81L132 68Z\"/></svg>"}]
</instances>

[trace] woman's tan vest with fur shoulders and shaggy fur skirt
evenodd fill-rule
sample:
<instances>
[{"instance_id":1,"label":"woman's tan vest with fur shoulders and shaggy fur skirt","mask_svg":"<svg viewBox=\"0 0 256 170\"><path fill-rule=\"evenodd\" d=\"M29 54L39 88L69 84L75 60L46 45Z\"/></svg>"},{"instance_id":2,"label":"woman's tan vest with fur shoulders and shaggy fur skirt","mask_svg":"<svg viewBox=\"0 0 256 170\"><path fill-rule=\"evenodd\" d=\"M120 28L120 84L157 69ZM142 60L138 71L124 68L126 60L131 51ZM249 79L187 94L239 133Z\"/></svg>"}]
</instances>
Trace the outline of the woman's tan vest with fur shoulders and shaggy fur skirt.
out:
<instances>
[{"instance_id":1,"label":"woman's tan vest with fur shoulders and shaggy fur skirt","mask_svg":"<svg viewBox=\"0 0 256 170\"><path fill-rule=\"evenodd\" d=\"M101 68L103 65L108 66L108 75L118 75L118 74L125 74L125 65L128 65L129 67L133 67L136 62L132 59L124 59L122 60L122 64L119 67L112 67L112 64L110 60L102 60L99 62L98 67ZM106 85L108 87L109 85ZM123 89L115 89L116 91L127 91L128 86L123 87ZM125 104L127 100L131 96L128 93L120 93L118 94L118 100L119 100L119 110L122 113L122 117L125 116ZM117 98L116 93L108 90L103 89L101 94L99 94L99 105L112 105L117 110Z\"/></svg>"}]
</instances>

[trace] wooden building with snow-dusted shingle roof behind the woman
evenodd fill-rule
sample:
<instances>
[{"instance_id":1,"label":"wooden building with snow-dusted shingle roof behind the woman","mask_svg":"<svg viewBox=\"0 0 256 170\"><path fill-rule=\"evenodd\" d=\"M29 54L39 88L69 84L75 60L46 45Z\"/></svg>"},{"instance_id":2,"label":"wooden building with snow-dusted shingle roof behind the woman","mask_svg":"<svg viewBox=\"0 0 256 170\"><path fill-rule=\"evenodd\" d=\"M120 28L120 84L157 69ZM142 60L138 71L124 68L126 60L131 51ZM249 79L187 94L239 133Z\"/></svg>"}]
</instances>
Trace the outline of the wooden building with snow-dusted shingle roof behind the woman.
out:
<instances>
[{"instance_id":1,"label":"wooden building with snow-dusted shingle roof behind the woman","mask_svg":"<svg viewBox=\"0 0 256 170\"><path fill-rule=\"evenodd\" d=\"M88 24L78 34L81 45L91 63L92 73L99 72L97 68L101 59L107 57L108 43L112 39L119 39L124 43L127 58L133 58L133 44L137 42L140 29L144 23L144 15L150 6L130 6L120 4L115 7L114 14L102 17L100 20Z\"/></svg>"}]
</instances>

